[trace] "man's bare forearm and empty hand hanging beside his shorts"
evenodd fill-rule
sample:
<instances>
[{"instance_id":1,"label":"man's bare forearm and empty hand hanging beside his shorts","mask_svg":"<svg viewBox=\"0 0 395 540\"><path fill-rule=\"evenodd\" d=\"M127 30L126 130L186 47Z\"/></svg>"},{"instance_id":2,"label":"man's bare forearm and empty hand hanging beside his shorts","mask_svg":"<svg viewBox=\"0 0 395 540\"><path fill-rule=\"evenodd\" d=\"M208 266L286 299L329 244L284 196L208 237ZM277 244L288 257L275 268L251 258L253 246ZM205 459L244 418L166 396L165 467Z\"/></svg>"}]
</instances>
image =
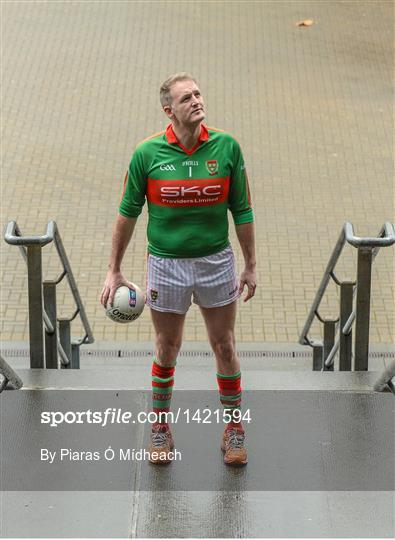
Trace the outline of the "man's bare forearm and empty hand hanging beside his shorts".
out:
<instances>
[{"instance_id":1,"label":"man's bare forearm and empty hand hanging beside his shorts","mask_svg":"<svg viewBox=\"0 0 395 540\"><path fill-rule=\"evenodd\" d=\"M240 276L240 294L245 285L248 287L248 294L244 298L247 302L255 294L256 289L256 257L255 257L255 234L254 223L241 223L235 225L237 238L244 256L244 270Z\"/></svg>"}]
</instances>

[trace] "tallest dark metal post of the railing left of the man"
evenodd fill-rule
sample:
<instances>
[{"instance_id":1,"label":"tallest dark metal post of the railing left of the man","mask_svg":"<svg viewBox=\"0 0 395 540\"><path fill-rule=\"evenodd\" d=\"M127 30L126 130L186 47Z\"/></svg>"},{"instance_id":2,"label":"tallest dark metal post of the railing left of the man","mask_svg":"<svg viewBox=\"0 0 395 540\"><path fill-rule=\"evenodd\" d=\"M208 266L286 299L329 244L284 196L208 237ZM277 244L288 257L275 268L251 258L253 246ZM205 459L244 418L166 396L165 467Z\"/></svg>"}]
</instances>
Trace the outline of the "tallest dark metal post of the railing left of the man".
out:
<instances>
[{"instance_id":1,"label":"tallest dark metal post of the railing left of the man","mask_svg":"<svg viewBox=\"0 0 395 540\"><path fill-rule=\"evenodd\" d=\"M27 246L30 367L44 367L42 254L40 245Z\"/></svg>"}]
</instances>

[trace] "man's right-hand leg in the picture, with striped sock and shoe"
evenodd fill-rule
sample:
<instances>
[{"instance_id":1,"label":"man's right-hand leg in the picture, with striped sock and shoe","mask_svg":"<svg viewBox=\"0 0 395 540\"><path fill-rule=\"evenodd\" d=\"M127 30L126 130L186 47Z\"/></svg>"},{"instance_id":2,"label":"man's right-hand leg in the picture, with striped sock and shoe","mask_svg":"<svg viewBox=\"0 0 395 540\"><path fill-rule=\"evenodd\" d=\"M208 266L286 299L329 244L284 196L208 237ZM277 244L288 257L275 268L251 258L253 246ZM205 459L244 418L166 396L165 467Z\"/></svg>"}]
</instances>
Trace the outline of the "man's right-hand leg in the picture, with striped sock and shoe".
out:
<instances>
[{"instance_id":1,"label":"man's right-hand leg in the picture, with striped sock and shoe","mask_svg":"<svg viewBox=\"0 0 395 540\"><path fill-rule=\"evenodd\" d=\"M240 362L236 355L234 336L236 301L221 307L200 307L200 310L216 358L220 400L224 410L232 418L225 429L221 444L225 451L224 460L228 465L245 465L247 452L244 448L244 429L240 421Z\"/></svg>"}]
</instances>

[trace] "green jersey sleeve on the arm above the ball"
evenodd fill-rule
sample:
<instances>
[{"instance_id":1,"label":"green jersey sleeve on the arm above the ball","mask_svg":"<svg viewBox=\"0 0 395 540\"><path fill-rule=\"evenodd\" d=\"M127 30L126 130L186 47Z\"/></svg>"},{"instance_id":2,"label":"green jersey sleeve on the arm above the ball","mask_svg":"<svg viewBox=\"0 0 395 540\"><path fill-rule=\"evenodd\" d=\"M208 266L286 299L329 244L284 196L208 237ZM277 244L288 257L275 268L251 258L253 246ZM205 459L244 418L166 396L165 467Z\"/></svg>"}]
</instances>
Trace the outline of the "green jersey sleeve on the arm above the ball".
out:
<instances>
[{"instance_id":1,"label":"green jersey sleeve on the arm above the ball","mask_svg":"<svg viewBox=\"0 0 395 540\"><path fill-rule=\"evenodd\" d=\"M125 176L119 213L124 217L138 217L145 203L147 173L144 155L136 148Z\"/></svg>"}]
</instances>

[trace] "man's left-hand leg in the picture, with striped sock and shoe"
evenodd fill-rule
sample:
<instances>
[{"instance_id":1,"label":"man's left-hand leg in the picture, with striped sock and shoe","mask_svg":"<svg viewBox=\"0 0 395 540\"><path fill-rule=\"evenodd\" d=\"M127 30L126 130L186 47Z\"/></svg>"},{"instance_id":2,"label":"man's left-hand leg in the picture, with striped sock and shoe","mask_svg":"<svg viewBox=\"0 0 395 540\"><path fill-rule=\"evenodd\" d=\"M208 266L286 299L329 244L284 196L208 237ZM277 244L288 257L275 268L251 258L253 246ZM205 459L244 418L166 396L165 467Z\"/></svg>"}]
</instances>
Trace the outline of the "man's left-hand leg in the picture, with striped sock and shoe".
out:
<instances>
[{"instance_id":1,"label":"man's left-hand leg in the picture, with striped sock and shoe","mask_svg":"<svg viewBox=\"0 0 395 540\"><path fill-rule=\"evenodd\" d=\"M174 371L182 343L185 315L151 309L151 318L156 334L151 374L153 411L157 414L157 421L152 426L149 452L152 463L165 464L171 462L168 452L172 450L174 443L166 418L161 418L161 413L170 411Z\"/></svg>"}]
</instances>

